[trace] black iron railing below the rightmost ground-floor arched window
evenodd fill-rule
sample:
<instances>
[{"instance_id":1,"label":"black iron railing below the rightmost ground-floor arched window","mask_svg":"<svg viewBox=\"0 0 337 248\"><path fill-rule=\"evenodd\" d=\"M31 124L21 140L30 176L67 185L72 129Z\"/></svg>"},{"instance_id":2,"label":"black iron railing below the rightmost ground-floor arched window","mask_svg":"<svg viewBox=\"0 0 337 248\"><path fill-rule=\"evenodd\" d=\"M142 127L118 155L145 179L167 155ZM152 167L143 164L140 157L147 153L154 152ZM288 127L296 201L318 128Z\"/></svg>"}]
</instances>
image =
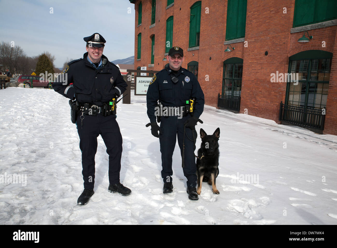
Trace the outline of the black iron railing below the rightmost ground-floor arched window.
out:
<instances>
[{"instance_id":1,"label":"black iron railing below the rightmost ground-floor arched window","mask_svg":"<svg viewBox=\"0 0 337 248\"><path fill-rule=\"evenodd\" d=\"M295 126L323 130L325 114L325 108L304 108L285 105L281 102L279 120Z\"/></svg>"}]
</instances>

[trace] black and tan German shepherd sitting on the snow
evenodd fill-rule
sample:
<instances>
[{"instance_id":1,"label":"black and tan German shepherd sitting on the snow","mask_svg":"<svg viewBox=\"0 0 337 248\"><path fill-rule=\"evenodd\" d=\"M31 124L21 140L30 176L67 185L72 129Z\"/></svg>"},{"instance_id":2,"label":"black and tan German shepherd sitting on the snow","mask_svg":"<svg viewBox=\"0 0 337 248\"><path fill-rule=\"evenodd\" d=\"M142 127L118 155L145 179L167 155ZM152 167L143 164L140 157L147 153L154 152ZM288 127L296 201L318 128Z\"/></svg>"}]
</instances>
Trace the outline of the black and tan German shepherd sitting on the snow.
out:
<instances>
[{"instance_id":1,"label":"black and tan German shepherd sitting on the snow","mask_svg":"<svg viewBox=\"0 0 337 248\"><path fill-rule=\"evenodd\" d=\"M198 188L196 193L201 194L202 182L208 182L212 185L214 194L220 192L216 189L215 178L219 175L219 144L220 129L217 128L213 135L207 135L200 129L201 147L198 150L198 158L196 160L196 169L198 175Z\"/></svg>"}]
</instances>

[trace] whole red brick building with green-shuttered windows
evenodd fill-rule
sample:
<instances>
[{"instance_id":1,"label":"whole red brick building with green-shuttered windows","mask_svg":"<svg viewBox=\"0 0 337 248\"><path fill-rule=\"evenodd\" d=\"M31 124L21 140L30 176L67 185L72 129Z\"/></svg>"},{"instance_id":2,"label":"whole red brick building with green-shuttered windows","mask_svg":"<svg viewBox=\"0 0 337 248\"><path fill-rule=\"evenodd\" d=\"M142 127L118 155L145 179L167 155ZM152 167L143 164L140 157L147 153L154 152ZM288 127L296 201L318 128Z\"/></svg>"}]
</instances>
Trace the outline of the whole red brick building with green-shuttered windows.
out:
<instances>
[{"instance_id":1,"label":"whole red brick building with green-shuttered windows","mask_svg":"<svg viewBox=\"0 0 337 248\"><path fill-rule=\"evenodd\" d=\"M129 1L135 68L180 46L207 105L337 135L337 1Z\"/></svg>"}]
</instances>

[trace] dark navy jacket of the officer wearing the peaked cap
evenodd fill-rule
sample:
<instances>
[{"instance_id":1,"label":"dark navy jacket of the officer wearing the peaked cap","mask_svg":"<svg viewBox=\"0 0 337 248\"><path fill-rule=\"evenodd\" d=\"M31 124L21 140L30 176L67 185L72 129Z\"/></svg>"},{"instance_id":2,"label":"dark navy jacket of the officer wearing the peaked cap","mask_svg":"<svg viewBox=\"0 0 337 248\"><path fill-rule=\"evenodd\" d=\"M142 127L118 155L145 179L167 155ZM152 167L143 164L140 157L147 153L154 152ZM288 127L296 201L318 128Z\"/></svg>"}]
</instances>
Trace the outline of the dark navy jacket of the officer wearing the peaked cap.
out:
<instances>
[{"instance_id":1,"label":"dark navy jacket of the officer wearing the peaked cap","mask_svg":"<svg viewBox=\"0 0 337 248\"><path fill-rule=\"evenodd\" d=\"M108 58L102 55L102 60L106 59L106 64L100 69L95 69L87 60L88 53L83 55L83 59L73 60L68 63L62 73L67 77L67 84L63 85L62 76L53 83L53 89L71 100L78 100L80 103L93 103L102 106L115 97L121 95L127 87L119 68L109 62ZM69 85L71 84L72 85ZM75 97L74 97L75 95Z\"/></svg>"}]
</instances>

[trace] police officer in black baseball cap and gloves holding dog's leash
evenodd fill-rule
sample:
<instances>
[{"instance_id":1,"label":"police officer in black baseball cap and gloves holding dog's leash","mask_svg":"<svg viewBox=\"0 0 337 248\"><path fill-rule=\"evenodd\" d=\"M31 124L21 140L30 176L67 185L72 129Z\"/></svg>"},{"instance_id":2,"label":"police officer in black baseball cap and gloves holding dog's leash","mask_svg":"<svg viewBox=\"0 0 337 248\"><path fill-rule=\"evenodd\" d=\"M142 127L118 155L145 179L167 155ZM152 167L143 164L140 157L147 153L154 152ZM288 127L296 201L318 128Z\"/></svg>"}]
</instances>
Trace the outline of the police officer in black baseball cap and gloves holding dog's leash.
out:
<instances>
[{"instance_id":1,"label":"police officer in black baseball cap and gloves holding dog's leash","mask_svg":"<svg viewBox=\"0 0 337 248\"><path fill-rule=\"evenodd\" d=\"M197 200L196 165L195 165L195 125L204 110L204 93L193 73L181 67L184 61L183 49L173 47L166 56L169 66L158 72L151 80L147 91L147 114L150 119L151 133L159 138L161 152L161 176L163 178L163 193L173 192L172 184L172 155L178 137L183 159L183 172L187 178L188 198ZM176 107L181 110L186 101L195 98L193 116L176 113L171 116L161 116L160 128L156 123L157 101L164 107ZM184 108L186 110L186 108ZM158 113L158 112L157 112ZM159 113L161 113L159 111ZM184 111L184 113L187 113ZM161 113L164 115L163 113ZM166 115L166 114L165 114ZM184 114L183 114L184 115ZM159 131L159 134L158 134Z\"/></svg>"}]
</instances>

